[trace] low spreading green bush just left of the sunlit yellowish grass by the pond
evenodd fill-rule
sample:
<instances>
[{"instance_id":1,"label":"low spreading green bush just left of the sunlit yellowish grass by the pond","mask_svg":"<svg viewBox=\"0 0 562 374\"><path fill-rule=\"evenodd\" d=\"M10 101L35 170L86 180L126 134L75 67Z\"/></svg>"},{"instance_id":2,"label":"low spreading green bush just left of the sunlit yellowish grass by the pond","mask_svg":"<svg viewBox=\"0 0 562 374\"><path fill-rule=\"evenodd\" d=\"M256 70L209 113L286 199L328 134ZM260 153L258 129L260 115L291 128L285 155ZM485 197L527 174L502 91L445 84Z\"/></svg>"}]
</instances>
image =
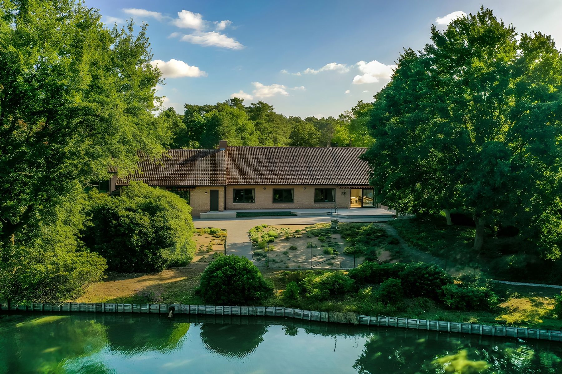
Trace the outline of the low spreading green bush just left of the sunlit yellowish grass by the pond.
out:
<instances>
[{"instance_id":1,"label":"low spreading green bush just left of the sunlit yellowish grass by the pond","mask_svg":"<svg viewBox=\"0 0 562 374\"><path fill-rule=\"evenodd\" d=\"M486 287L447 284L442 290L443 303L452 309L475 311L490 309L498 303L496 294Z\"/></svg>"}]
</instances>

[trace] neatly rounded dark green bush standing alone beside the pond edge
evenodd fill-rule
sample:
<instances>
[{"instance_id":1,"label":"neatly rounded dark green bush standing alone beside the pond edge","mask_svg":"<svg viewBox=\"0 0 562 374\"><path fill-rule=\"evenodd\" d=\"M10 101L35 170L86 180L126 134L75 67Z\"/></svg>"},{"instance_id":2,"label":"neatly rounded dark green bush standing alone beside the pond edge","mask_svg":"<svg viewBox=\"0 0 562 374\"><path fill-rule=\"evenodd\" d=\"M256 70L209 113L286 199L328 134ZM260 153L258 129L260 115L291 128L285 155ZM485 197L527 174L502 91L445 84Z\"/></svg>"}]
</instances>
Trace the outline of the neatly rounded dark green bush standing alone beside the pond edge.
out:
<instances>
[{"instance_id":1,"label":"neatly rounded dark green bush standing alone beside the pond edge","mask_svg":"<svg viewBox=\"0 0 562 374\"><path fill-rule=\"evenodd\" d=\"M207 266L197 292L207 303L244 305L270 296L273 288L246 257L223 256Z\"/></svg>"}]
</instances>

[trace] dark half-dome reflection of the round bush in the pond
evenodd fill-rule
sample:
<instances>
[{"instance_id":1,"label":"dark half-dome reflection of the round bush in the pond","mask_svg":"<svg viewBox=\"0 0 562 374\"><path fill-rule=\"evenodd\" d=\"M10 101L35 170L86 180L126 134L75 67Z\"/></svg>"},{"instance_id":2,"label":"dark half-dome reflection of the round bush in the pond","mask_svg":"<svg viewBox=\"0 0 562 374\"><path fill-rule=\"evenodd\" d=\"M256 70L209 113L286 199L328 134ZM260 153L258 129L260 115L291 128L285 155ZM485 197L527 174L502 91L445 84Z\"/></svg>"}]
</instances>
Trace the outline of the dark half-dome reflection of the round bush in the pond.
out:
<instances>
[{"instance_id":1,"label":"dark half-dome reflection of the round bush in the pond","mask_svg":"<svg viewBox=\"0 0 562 374\"><path fill-rule=\"evenodd\" d=\"M225 357L243 358L251 354L262 341L268 326L219 325L203 323L201 340L206 348Z\"/></svg>"}]
</instances>

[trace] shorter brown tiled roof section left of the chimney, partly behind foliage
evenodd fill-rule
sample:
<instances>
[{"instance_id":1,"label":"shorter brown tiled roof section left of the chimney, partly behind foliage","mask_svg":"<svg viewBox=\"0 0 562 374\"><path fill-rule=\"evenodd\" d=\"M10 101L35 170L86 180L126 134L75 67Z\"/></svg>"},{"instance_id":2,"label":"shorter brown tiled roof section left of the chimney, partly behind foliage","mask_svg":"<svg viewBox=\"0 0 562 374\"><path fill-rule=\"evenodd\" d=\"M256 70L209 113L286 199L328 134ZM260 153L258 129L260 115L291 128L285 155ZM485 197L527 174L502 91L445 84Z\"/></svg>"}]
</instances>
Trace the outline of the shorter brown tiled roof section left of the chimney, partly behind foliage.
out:
<instances>
[{"instance_id":1,"label":"shorter brown tiled roof section left of the chimney, partly behind foliage","mask_svg":"<svg viewBox=\"0 0 562 374\"><path fill-rule=\"evenodd\" d=\"M223 186L224 156L218 149L169 149L156 162L139 155L140 172L118 178L116 185L142 180L151 186Z\"/></svg>"}]
</instances>

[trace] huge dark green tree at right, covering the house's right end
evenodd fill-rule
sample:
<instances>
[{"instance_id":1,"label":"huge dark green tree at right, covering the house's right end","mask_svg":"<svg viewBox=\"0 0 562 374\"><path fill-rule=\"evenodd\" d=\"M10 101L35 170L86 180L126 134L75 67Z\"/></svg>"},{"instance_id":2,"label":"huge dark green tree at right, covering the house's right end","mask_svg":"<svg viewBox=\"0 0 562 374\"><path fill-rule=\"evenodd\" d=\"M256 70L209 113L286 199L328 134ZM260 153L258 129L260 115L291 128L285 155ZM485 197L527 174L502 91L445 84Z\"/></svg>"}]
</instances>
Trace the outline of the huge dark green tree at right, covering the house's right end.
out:
<instances>
[{"instance_id":1,"label":"huge dark green tree at right, covering the house's right end","mask_svg":"<svg viewBox=\"0 0 562 374\"><path fill-rule=\"evenodd\" d=\"M542 33L516 36L484 8L433 27L376 95L366 159L388 204L470 213L477 249L486 225L515 224L558 258L560 211L543 212L560 195L562 56Z\"/></svg>"}]
</instances>

